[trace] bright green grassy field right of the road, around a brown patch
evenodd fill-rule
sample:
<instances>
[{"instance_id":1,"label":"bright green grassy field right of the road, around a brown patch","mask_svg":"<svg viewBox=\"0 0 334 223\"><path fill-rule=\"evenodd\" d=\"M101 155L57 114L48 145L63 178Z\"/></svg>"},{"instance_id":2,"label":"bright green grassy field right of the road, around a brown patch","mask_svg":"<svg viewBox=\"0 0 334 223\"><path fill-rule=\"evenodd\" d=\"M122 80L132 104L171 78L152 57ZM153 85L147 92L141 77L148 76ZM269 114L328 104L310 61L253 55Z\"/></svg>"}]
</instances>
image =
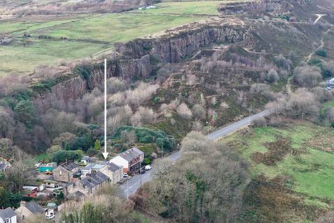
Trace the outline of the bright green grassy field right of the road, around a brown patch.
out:
<instances>
[{"instance_id":1,"label":"bright green grassy field right of the road, around a brown patch","mask_svg":"<svg viewBox=\"0 0 334 223\"><path fill-rule=\"evenodd\" d=\"M289 139L290 151L274 165L255 162L256 152L268 153L267 144ZM328 206L334 200L334 130L311 123L287 128L253 128L249 134L232 134L225 144L238 149L250 162L251 176L269 179L288 176L286 187L305 202Z\"/></svg>"}]
</instances>

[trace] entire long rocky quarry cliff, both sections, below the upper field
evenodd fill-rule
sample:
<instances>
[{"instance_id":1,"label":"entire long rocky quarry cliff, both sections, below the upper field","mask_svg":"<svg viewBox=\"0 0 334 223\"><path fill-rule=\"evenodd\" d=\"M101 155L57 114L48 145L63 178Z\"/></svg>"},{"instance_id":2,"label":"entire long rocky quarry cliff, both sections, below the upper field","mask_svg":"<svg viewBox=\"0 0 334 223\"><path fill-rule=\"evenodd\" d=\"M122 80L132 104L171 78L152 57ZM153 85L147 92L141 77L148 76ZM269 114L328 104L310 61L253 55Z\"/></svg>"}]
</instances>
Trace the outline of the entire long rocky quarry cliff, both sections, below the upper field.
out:
<instances>
[{"instance_id":1,"label":"entire long rocky quarry cliff, both sections, below the upper field","mask_svg":"<svg viewBox=\"0 0 334 223\"><path fill-rule=\"evenodd\" d=\"M173 32L154 39L138 39L118 48L119 56L109 63L107 73L109 77L133 79L149 77L152 72L150 55L156 56L161 62L176 63L182 58L190 56L200 47L213 43L235 43L244 40L246 29L240 26L226 24L212 24L211 26L197 26ZM57 84L44 95L38 95L35 102L45 105L46 98L70 100L80 98L84 93L101 84L104 79L103 63L97 63L90 71L89 77L74 77Z\"/></svg>"}]
</instances>

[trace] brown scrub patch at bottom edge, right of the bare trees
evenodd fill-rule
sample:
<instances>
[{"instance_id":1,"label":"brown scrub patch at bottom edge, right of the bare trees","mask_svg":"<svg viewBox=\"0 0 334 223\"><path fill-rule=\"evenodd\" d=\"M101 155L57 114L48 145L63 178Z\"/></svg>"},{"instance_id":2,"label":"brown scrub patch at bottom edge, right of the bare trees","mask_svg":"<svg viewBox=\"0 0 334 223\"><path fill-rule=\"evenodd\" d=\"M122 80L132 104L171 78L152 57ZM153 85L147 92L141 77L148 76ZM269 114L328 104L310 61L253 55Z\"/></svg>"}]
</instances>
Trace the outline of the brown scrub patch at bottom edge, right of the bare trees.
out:
<instances>
[{"instance_id":1,"label":"brown scrub patch at bottom edge, right of the bare trees","mask_svg":"<svg viewBox=\"0 0 334 223\"><path fill-rule=\"evenodd\" d=\"M300 218L314 220L319 210L306 206L303 200L287 190L288 178L271 180L258 176L250 181L244 197L244 213L237 222L287 222Z\"/></svg>"}]
</instances>

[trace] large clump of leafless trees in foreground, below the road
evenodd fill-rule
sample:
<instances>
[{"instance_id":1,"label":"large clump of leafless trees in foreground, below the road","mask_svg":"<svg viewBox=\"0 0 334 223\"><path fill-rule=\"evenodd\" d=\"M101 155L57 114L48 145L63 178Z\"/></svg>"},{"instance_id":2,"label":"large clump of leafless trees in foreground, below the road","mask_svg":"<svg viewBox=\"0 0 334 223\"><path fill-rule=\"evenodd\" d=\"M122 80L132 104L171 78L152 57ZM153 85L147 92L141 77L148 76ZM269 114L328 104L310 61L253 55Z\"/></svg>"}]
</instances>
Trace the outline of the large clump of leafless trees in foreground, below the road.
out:
<instances>
[{"instance_id":1,"label":"large clump of leafless trees in foreground, below the road","mask_svg":"<svg viewBox=\"0 0 334 223\"><path fill-rule=\"evenodd\" d=\"M157 180L145 185L137 208L180 222L233 222L241 209L246 163L199 132L182 141L182 157L157 162ZM217 177L219 176L219 177Z\"/></svg>"}]
</instances>

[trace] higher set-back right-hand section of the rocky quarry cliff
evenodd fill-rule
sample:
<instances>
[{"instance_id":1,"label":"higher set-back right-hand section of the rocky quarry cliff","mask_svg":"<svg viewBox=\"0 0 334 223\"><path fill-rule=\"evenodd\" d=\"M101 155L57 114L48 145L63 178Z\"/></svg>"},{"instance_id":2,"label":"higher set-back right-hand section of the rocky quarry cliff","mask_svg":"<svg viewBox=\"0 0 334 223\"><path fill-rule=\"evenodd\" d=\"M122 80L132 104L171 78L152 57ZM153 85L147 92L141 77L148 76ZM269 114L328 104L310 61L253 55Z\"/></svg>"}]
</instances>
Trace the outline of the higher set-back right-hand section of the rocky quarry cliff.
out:
<instances>
[{"instance_id":1,"label":"higher set-back right-hand section of the rocky quarry cliff","mask_svg":"<svg viewBox=\"0 0 334 223\"><path fill-rule=\"evenodd\" d=\"M199 25L192 29L184 27L182 30L170 30L159 38L134 40L127 43L122 51L131 58L150 54L162 62L177 63L205 45L245 40L246 27L218 23L208 26Z\"/></svg>"}]
</instances>

